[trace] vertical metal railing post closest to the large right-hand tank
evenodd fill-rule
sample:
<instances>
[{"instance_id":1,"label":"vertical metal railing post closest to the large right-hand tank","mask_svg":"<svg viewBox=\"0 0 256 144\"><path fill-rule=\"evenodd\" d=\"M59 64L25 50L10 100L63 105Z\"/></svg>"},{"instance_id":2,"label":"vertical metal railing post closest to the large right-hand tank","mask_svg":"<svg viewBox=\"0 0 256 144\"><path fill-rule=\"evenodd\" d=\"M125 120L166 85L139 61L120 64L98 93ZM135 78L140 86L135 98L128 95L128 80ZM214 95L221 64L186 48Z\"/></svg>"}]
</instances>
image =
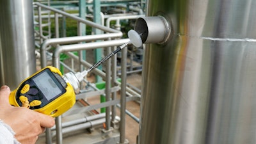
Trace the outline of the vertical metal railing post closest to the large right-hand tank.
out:
<instances>
[{"instance_id":1,"label":"vertical metal railing post closest to the large right-hand tank","mask_svg":"<svg viewBox=\"0 0 256 144\"><path fill-rule=\"evenodd\" d=\"M121 109L120 109L120 143L125 143L125 107L126 107L126 67L127 67L127 48L122 49L122 74L121 74Z\"/></svg>"}]
</instances>

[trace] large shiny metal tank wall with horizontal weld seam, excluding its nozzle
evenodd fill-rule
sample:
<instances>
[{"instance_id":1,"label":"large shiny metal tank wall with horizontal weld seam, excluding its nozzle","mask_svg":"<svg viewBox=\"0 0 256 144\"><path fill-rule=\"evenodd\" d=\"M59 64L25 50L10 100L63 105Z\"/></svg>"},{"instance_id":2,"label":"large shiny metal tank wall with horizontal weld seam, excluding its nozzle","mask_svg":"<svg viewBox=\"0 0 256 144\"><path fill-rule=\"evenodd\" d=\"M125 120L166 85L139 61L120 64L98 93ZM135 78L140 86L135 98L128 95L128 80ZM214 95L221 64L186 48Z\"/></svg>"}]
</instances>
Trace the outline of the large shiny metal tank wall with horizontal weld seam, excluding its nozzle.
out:
<instances>
[{"instance_id":1,"label":"large shiny metal tank wall with horizontal weld seam, excluding its nozzle","mask_svg":"<svg viewBox=\"0 0 256 144\"><path fill-rule=\"evenodd\" d=\"M256 1L149 0L173 27L147 44L140 144L256 141Z\"/></svg>"}]
</instances>

